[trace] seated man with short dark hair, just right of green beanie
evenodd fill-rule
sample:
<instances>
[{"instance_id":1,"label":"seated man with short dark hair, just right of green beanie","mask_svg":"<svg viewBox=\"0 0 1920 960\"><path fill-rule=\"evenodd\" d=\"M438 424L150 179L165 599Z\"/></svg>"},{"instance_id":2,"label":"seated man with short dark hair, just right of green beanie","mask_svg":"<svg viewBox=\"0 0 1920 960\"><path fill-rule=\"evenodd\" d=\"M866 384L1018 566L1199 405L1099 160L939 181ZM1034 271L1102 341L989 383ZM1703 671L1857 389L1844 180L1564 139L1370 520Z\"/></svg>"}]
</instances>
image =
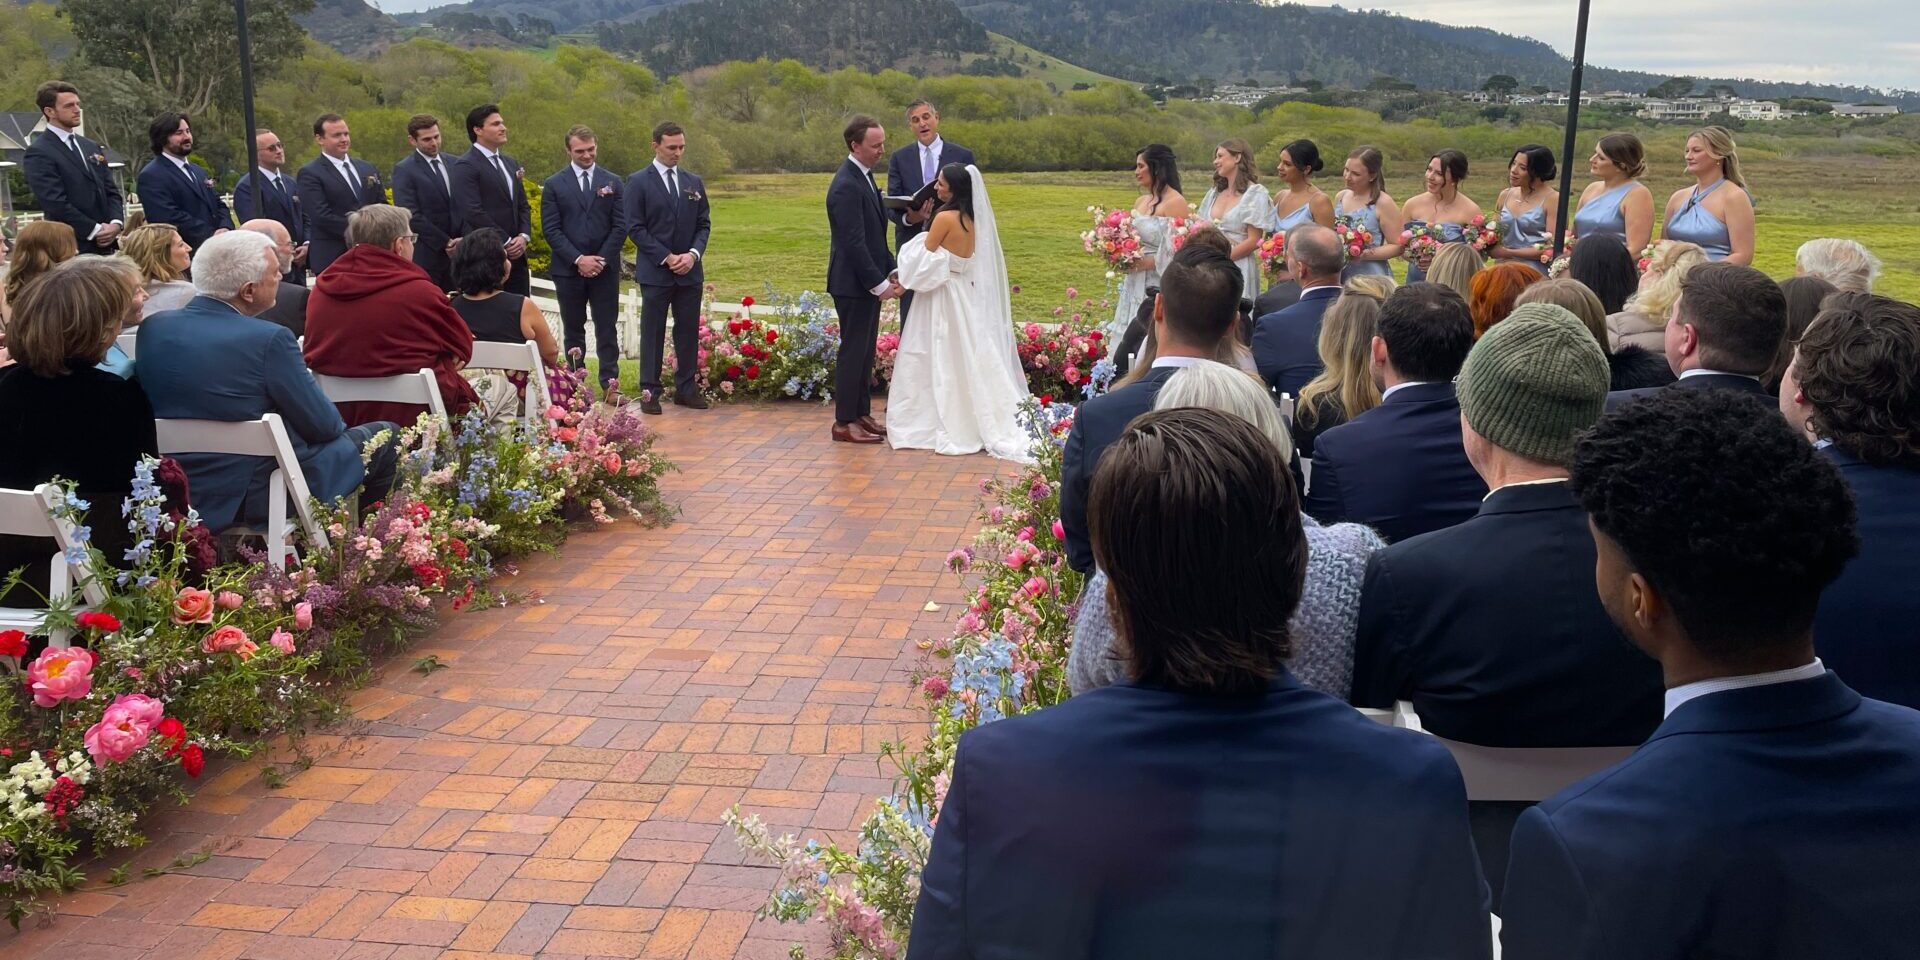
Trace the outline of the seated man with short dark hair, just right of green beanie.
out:
<instances>
[{"instance_id":1,"label":"seated man with short dark hair, just right of green beanie","mask_svg":"<svg viewBox=\"0 0 1920 960\"><path fill-rule=\"evenodd\" d=\"M1701 263L1680 280L1667 321L1667 367L1680 378L1663 388L1617 390L1607 409L1653 390L1738 390L1772 399L1761 376L1788 336L1780 284L1740 263Z\"/></svg>"}]
</instances>

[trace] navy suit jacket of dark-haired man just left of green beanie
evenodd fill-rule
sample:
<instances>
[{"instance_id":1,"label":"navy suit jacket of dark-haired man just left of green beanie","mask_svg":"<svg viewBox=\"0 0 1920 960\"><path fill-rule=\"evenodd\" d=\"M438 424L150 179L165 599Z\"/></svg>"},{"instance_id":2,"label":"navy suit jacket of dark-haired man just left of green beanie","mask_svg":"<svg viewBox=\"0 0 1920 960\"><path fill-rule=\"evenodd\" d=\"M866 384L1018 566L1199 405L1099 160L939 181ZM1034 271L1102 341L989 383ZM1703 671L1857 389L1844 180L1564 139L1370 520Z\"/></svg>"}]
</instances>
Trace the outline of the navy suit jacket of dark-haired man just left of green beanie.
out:
<instances>
[{"instance_id":1,"label":"navy suit jacket of dark-haired man just left of green beanie","mask_svg":"<svg viewBox=\"0 0 1920 960\"><path fill-rule=\"evenodd\" d=\"M1398 543L1473 516L1484 495L1450 382L1409 384L1313 440L1308 515L1323 524L1367 524Z\"/></svg>"}]
</instances>

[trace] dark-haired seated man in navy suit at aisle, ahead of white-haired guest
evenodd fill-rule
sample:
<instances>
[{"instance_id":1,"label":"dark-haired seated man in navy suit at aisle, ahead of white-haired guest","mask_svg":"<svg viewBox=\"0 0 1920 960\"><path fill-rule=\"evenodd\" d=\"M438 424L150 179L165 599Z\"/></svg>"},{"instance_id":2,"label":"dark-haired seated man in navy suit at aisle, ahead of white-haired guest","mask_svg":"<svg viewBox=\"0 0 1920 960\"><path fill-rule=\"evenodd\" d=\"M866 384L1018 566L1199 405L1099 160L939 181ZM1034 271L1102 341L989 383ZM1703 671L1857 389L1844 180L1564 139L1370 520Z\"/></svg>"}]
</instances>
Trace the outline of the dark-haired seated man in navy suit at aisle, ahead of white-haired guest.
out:
<instances>
[{"instance_id":1,"label":"dark-haired seated man in navy suit at aisle, ahead of white-haired guest","mask_svg":"<svg viewBox=\"0 0 1920 960\"><path fill-rule=\"evenodd\" d=\"M1154 300L1152 363L1137 367L1131 382L1116 384L1079 405L1060 465L1060 526L1066 530L1068 564L1092 572L1092 543L1087 541L1087 490L1100 455L1127 422L1154 409L1154 394L1181 367L1217 359L1233 338L1240 307L1240 267L1229 252L1206 244L1185 244L1160 275ZM1135 374L1129 374L1135 376Z\"/></svg>"}]
</instances>

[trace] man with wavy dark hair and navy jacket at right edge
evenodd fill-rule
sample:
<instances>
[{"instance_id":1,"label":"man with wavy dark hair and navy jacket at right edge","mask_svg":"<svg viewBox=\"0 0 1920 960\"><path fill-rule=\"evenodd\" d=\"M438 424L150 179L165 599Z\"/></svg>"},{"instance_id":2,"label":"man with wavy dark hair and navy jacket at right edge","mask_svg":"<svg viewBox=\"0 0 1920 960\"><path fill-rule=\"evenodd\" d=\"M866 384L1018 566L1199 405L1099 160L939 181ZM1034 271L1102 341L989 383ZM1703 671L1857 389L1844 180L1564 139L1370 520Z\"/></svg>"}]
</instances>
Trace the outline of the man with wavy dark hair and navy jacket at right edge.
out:
<instances>
[{"instance_id":1,"label":"man with wavy dark hair and navy jacket at right edge","mask_svg":"<svg viewBox=\"0 0 1920 960\"><path fill-rule=\"evenodd\" d=\"M1920 708L1920 307L1828 298L1780 411L1839 467L1859 513L1860 555L1820 595L1814 649L1860 693Z\"/></svg>"}]
</instances>

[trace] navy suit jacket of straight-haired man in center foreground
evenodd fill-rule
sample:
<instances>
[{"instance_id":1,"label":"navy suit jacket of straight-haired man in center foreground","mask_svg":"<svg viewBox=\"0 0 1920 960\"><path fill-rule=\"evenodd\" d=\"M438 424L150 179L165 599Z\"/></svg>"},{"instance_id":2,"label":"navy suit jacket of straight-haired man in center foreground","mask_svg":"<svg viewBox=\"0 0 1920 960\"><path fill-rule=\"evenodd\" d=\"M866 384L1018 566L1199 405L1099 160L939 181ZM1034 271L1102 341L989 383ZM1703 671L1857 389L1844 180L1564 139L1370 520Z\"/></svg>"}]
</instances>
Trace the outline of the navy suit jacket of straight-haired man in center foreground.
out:
<instances>
[{"instance_id":1,"label":"navy suit jacket of straight-haired man in center foreground","mask_svg":"<svg viewBox=\"0 0 1920 960\"><path fill-rule=\"evenodd\" d=\"M1290 676L960 737L908 960L1484 958L1459 768Z\"/></svg>"}]
</instances>

